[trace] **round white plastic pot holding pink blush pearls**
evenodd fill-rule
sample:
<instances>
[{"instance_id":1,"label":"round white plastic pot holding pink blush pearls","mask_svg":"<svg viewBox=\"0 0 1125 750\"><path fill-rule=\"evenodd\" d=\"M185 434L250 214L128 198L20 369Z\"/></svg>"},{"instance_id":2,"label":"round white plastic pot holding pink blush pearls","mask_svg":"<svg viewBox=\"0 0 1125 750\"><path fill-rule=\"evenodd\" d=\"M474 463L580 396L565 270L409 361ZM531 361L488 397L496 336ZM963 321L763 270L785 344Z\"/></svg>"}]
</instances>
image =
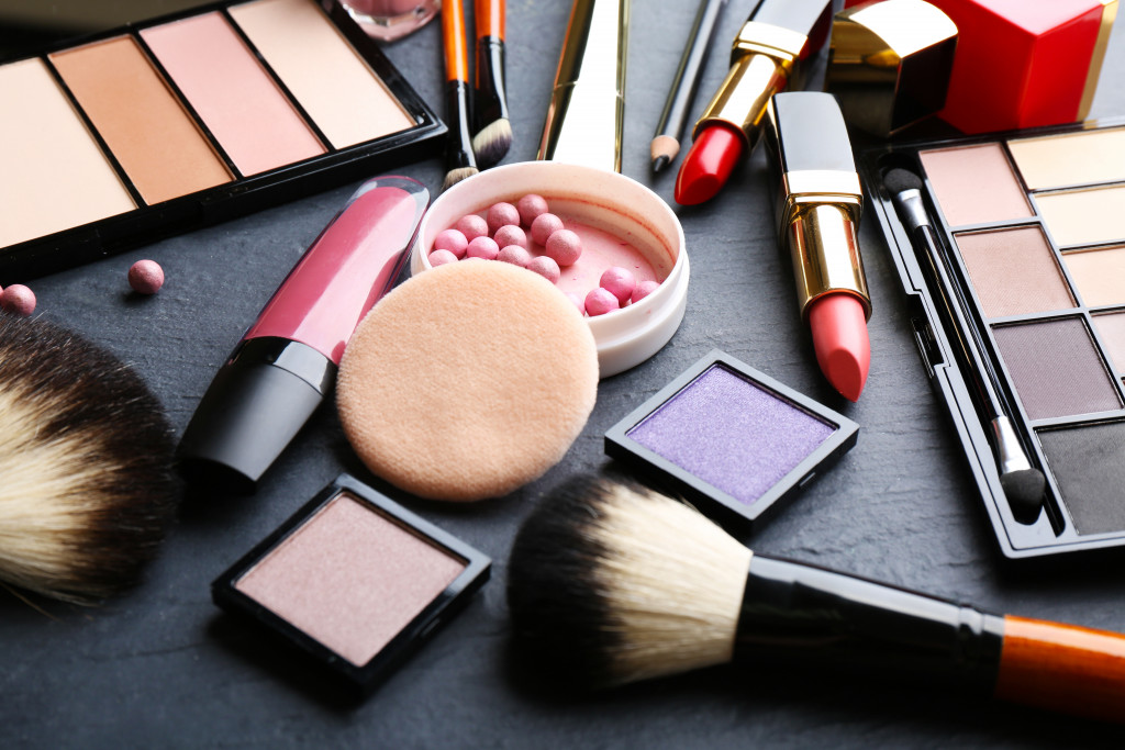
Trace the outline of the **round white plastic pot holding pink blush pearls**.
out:
<instances>
[{"instance_id":1,"label":"round white plastic pot holding pink blush pearls","mask_svg":"<svg viewBox=\"0 0 1125 750\"><path fill-rule=\"evenodd\" d=\"M497 166L462 180L444 191L426 213L411 253L411 273L430 269L428 251L442 229L467 214L483 214L500 201L514 204L528 193L546 198L550 211L567 228L578 226L579 232L588 231L605 245L624 243L631 247L644 257L654 280L660 282L638 302L587 319L597 346L601 377L628 370L656 354L680 327L687 302L684 231L659 196L616 172L537 161ZM588 243L587 236L583 241ZM540 247L534 250L541 252ZM584 251L583 256L588 252ZM574 291L568 278L574 280L576 273L588 275L574 281L586 286L579 295L585 297L606 268L622 265L619 260L606 257L587 266L579 262L569 274L564 269L559 291ZM638 274L638 281L644 278Z\"/></svg>"}]
</instances>

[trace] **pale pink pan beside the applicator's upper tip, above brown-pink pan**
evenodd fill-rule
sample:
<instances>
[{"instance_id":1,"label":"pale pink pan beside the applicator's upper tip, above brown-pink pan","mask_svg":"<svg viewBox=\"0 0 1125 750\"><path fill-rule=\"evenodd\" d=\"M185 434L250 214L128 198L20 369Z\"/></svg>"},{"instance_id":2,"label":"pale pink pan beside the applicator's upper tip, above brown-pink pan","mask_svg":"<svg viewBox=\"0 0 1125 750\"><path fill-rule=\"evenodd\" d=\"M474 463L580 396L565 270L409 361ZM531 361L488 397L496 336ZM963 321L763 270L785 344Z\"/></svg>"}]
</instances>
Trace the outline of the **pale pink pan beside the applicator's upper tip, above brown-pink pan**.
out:
<instances>
[{"instance_id":1,"label":"pale pink pan beside the applicator's upper tip, above brown-pink pan","mask_svg":"<svg viewBox=\"0 0 1125 750\"><path fill-rule=\"evenodd\" d=\"M951 226L1034 216L1000 144L922 151L918 157Z\"/></svg>"}]
</instances>

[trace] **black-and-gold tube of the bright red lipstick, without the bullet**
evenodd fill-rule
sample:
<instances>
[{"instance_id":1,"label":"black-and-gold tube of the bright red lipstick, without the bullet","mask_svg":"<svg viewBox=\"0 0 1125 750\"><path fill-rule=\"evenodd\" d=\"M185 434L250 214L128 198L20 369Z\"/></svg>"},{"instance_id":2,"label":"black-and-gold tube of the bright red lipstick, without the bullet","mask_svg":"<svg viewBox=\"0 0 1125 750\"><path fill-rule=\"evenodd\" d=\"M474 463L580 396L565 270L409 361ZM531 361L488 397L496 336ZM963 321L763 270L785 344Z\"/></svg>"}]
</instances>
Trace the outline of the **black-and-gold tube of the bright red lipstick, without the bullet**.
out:
<instances>
[{"instance_id":1,"label":"black-and-gold tube of the bright red lipstick, without the bullet","mask_svg":"<svg viewBox=\"0 0 1125 750\"><path fill-rule=\"evenodd\" d=\"M724 123L746 136L749 153L770 98L791 82L801 84L804 63L824 45L830 18L830 0L763 0L735 38L730 70L693 136Z\"/></svg>"}]
</instances>

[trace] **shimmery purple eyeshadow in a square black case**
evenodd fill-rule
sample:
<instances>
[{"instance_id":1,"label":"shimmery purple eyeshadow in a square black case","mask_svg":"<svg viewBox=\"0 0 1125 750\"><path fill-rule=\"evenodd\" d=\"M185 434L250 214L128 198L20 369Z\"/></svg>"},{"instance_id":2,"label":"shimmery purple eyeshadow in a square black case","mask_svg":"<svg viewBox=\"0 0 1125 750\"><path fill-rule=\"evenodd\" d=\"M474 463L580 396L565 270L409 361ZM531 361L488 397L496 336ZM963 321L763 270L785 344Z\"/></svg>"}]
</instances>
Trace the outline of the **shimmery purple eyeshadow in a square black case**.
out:
<instances>
[{"instance_id":1,"label":"shimmery purple eyeshadow in a square black case","mask_svg":"<svg viewBox=\"0 0 1125 750\"><path fill-rule=\"evenodd\" d=\"M742 533L855 445L858 430L713 351L605 433L605 452Z\"/></svg>"}]
</instances>

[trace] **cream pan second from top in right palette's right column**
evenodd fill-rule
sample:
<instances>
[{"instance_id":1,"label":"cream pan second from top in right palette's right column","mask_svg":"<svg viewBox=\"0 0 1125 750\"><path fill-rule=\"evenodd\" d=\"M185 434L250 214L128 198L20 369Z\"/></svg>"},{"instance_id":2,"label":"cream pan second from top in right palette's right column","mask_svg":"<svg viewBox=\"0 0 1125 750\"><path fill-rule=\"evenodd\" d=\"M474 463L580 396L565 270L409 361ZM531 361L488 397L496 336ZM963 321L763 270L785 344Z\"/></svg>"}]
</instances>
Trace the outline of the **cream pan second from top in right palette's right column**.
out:
<instances>
[{"instance_id":1,"label":"cream pan second from top in right palette's right column","mask_svg":"<svg viewBox=\"0 0 1125 750\"><path fill-rule=\"evenodd\" d=\"M1035 200L1060 245L1125 240L1125 188L1054 192L1038 195Z\"/></svg>"}]
</instances>

